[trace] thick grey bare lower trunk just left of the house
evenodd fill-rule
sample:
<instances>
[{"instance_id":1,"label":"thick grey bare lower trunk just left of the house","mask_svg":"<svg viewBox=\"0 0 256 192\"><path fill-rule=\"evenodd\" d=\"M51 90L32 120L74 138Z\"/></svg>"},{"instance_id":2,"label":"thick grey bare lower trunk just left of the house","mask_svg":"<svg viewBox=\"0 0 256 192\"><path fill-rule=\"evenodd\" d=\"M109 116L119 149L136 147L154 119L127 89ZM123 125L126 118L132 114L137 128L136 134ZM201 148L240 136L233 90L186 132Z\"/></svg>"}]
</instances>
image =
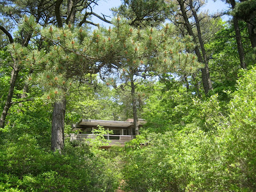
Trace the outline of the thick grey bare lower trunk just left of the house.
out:
<instances>
[{"instance_id":1,"label":"thick grey bare lower trunk just left of the house","mask_svg":"<svg viewBox=\"0 0 256 192\"><path fill-rule=\"evenodd\" d=\"M54 109L52 112L52 139L51 149L53 151L64 148L64 119L66 111L66 99L54 102Z\"/></svg>"}]
</instances>

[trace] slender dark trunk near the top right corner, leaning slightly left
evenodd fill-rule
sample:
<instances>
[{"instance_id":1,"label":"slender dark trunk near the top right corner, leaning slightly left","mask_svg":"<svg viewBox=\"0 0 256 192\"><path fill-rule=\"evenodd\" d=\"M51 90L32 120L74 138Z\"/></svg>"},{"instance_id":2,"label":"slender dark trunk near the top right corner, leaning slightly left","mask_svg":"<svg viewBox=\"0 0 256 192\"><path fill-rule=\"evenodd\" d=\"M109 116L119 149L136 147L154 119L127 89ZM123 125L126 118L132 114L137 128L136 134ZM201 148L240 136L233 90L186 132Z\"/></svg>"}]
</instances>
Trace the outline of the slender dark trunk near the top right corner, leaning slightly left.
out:
<instances>
[{"instance_id":1,"label":"slender dark trunk near the top right corner, leaning slightly left","mask_svg":"<svg viewBox=\"0 0 256 192\"><path fill-rule=\"evenodd\" d=\"M236 1L230 0L230 4L232 6L232 9L234 10L236 6ZM239 29L238 19L235 16L233 17L233 24L236 32L236 44L237 44L237 51L239 54L240 66L241 68L246 68L246 63L244 61L244 49L243 49L243 43L241 40L241 33Z\"/></svg>"}]
</instances>

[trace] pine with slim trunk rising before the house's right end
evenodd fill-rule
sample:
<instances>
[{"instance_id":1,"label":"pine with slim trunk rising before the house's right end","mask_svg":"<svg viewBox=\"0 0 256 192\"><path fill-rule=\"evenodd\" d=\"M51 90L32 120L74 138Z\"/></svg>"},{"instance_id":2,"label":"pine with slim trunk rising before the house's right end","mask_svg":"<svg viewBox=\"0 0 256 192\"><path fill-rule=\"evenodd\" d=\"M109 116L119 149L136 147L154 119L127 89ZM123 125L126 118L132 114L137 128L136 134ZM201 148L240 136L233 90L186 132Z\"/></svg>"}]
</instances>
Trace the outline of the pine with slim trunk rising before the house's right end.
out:
<instances>
[{"instance_id":1,"label":"pine with slim trunk rising before the house's right end","mask_svg":"<svg viewBox=\"0 0 256 192\"><path fill-rule=\"evenodd\" d=\"M136 135L139 134L136 86L157 74L191 74L198 68L195 55L186 51L194 45L184 44L174 34L170 24L161 29L140 29L131 27L120 17L116 19L115 28L108 30L108 42L119 50L118 62L102 68L100 74L107 84L130 87Z\"/></svg>"}]
</instances>

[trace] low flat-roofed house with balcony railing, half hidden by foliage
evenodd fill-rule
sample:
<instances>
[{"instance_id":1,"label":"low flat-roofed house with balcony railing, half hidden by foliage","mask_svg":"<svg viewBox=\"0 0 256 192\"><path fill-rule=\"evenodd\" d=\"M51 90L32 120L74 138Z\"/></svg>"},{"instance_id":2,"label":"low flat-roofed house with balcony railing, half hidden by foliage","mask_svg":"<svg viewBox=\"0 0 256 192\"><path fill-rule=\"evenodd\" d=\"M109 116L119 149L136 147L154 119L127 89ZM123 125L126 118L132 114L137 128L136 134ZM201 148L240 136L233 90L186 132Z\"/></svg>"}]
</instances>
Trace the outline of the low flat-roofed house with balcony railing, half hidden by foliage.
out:
<instances>
[{"instance_id":1,"label":"low flat-roofed house with balcony railing, half hidden by foliage","mask_svg":"<svg viewBox=\"0 0 256 192\"><path fill-rule=\"evenodd\" d=\"M146 123L145 120L139 119L138 125L139 129ZM79 134L70 134L70 140L79 140L82 141L88 138L95 138L93 134L93 129L98 129L98 125L104 127L104 129L113 131L113 134L106 134L104 138L111 141L109 146L121 145L124 146L126 141L131 141L135 138L133 119L129 118L125 121L113 121L113 120L81 120L76 125L73 126L72 131L79 130ZM105 147L105 148L109 148ZM103 147L104 148L104 147Z\"/></svg>"}]
</instances>

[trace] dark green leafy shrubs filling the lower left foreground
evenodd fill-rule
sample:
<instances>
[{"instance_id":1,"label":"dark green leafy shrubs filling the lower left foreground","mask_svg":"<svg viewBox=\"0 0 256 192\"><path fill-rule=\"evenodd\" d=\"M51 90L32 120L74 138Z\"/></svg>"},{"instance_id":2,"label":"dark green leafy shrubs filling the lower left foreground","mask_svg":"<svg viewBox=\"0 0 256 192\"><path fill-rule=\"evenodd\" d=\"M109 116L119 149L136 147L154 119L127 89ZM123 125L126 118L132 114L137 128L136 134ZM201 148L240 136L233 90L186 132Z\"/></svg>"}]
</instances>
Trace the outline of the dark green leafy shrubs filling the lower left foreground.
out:
<instances>
[{"instance_id":1,"label":"dark green leafy shrubs filling the lower left foreground","mask_svg":"<svg viewBox=\"0 0 256 192\"><path fill-rule=\"evenodd\" d=\"M118 184L109 161L94 156L86 145L67 143L60 155L40 148L28 134L1 147L1 162L2 190L113 191Z\"/></svg>"}]
</instances>

